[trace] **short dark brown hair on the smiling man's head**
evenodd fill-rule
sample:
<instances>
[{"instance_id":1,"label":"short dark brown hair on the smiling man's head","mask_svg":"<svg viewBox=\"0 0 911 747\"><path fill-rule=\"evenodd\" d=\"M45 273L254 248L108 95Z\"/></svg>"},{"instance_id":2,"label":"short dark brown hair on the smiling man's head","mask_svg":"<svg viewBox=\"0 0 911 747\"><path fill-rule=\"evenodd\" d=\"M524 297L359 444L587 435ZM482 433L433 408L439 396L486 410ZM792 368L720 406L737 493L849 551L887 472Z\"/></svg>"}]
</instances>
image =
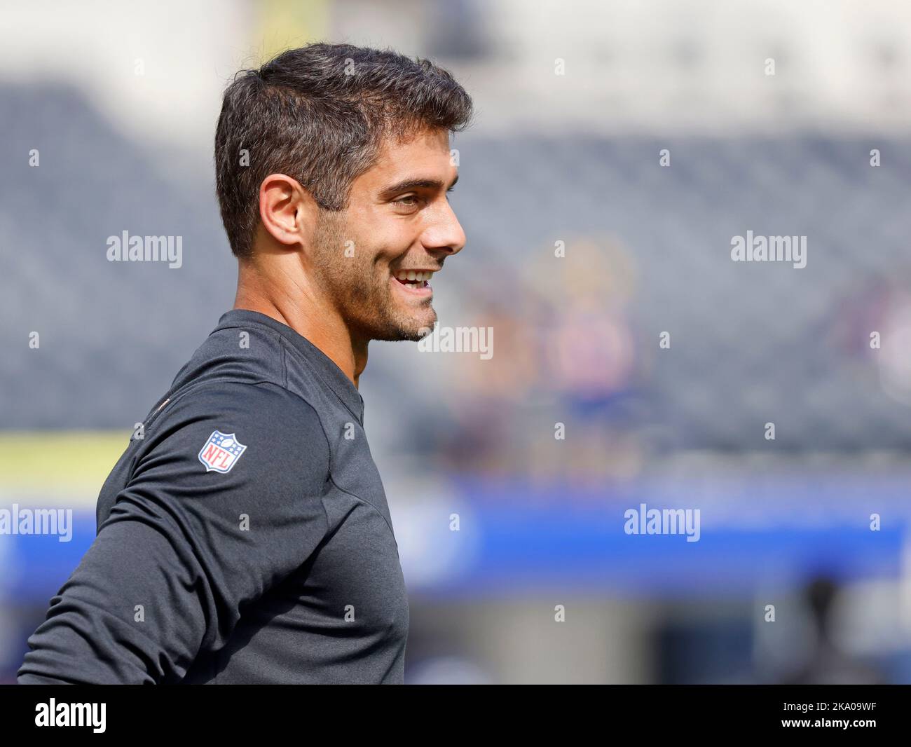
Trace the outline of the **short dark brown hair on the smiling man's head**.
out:
<instances>
[{"instance_id":1,"label":"short dark brown hair on the smiling man's head","mask_svg":"<svg viewBox=\"0 0 911 747\"><path fill-rule=\"evenodd\" d=\"M296 179L321 210L344 210L353 180L374 165L384 138L459 131L471 114L471 97L450 73L391 49L312 44L241 70L225 91L215 133L231 251L251 256L259 189L270 174Z\"/></svg>"}]
</instances>

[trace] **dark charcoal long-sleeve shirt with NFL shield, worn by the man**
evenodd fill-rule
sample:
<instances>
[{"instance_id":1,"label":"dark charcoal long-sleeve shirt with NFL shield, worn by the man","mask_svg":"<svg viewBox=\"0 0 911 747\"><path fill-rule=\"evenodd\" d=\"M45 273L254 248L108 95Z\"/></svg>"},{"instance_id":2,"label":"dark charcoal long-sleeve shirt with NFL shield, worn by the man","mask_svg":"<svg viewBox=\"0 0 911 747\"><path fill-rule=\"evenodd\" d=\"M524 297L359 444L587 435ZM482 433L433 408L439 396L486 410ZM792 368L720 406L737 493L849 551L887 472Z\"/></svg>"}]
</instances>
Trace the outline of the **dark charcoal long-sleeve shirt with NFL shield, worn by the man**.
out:
<instances>
[{"instance_id":1,"label":"dark charcoal long-sleeve shirt with NFL shield, worn by the man","mask_svg":"<svg viewBox=\"0 0 911 747\"><path fill-rule=\"evenodd\" d=\"M225 313L137 428L20 683L404 681L408 602L363 398Z\"/></svg>"}]
</instances>

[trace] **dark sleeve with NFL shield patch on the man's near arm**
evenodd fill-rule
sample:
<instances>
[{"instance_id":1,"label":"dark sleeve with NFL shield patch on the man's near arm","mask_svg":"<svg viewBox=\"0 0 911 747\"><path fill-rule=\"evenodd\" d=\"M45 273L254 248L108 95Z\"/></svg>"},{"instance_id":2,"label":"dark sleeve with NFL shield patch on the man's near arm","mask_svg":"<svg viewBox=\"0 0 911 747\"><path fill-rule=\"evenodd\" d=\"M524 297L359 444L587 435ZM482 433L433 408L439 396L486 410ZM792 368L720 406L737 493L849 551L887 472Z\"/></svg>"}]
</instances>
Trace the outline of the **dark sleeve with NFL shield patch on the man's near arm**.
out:
<instances>
[{"instance_id":1,"label":"dark sleeve with NFL shield patch on the man's near arm","mask_svg":"<svg viewBox=\"0 0 911 747\"><path fill-rule=\"evenodd\" d=\"M29 637L20 684L179 682L328 531L325 433L279 386L196 387L130 448L127 485Z\"/></svg>"}]
</instances>

